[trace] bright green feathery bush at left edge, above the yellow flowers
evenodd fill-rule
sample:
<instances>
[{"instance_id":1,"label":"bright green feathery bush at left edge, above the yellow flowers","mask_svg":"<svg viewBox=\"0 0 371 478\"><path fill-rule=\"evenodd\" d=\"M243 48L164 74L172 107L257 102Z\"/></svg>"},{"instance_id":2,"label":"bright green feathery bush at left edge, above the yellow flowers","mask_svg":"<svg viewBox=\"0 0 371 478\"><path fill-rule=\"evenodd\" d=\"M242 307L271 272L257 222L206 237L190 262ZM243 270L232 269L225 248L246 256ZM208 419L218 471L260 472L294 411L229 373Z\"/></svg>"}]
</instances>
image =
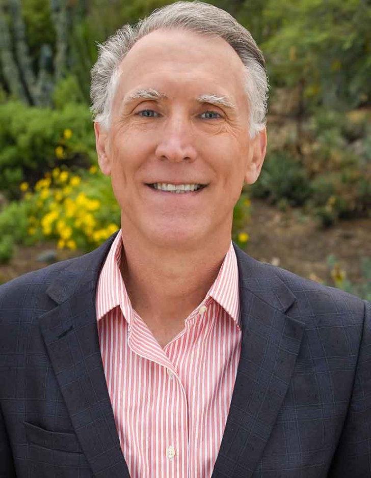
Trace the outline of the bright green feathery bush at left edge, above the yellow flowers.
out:
<instances>
[{"instance_id":1,"label":"bright green feathery bush at left edge, above the yellow flowers","mask_svg":"<svg viewBox=\"0 0 371 478\"><path fill-rule=\"evenodd\" d=\"M21 181L34 184L56 165L88 166L96 159L85 105L51 110L8 102L0 105L0 123L0 190L10 199L19 197Z\"/></svg>"}]
</instances>

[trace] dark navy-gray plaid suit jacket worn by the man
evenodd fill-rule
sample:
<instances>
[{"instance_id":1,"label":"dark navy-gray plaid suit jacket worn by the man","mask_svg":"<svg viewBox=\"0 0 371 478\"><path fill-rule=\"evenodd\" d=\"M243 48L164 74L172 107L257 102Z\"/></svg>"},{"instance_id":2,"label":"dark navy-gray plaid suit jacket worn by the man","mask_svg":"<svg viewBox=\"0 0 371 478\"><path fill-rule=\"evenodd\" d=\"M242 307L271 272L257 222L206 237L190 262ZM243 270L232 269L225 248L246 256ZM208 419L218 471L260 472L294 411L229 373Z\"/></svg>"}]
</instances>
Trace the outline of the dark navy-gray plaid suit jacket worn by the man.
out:
<instances>
[{"instance_id":1,"label":"dark navy-gray plaid suit jacket worn by the man","mask_svg":"<svg viewBox=\"0 0 371 478\"><path fill-rule=\"evenodd\" d=\"M112 241L0 287L1 477L129 476L95 315ZM235 250L242 351L213 478L370 476L370 304Z\"/></svg>"}]
</instances>

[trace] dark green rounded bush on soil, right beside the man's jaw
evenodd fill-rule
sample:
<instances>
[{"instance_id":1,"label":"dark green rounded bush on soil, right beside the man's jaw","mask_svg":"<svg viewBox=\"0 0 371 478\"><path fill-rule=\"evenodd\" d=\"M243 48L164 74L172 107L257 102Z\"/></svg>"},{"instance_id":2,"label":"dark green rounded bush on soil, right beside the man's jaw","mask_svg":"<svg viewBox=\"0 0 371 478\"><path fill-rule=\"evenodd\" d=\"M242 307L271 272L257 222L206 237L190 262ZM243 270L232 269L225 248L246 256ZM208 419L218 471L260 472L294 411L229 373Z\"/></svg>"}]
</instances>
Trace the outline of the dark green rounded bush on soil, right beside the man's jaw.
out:
<instances>
[{"instance_id":1,"label":"dark green rounded bush on soil, right beside the man's jaw","mask_svg":"<svg viewBox=\"0 0 371 478\"><path fill-rule=\"evenodd\" d=\"M310 195L309 179L294 157L277 151L268 155L251 192L254 197L267 198L273 204L286 200L292 206L301 206Z\"/></svg>"}]
</instances>

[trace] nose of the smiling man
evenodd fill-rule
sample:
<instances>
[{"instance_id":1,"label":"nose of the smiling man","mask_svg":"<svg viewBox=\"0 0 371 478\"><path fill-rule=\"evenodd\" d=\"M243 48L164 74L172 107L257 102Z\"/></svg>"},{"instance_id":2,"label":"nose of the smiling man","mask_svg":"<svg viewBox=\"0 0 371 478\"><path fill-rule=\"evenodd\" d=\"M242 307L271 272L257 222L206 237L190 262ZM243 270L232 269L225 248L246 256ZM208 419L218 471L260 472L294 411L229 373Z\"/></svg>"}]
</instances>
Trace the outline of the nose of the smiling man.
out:
<instances>
[{"instance_id":1,"label":"nose of the smiling man","mask_svg":"<svg viewBox=\"0 0 371 478\"><path fill-rule=\"evenodd\" d=\"M183 160L191 162L196 159L197 153L190 121L180 115L168 118L164 123L155 151L158 159L171 162L181 162Z\"/></svg>"}]
</instances>

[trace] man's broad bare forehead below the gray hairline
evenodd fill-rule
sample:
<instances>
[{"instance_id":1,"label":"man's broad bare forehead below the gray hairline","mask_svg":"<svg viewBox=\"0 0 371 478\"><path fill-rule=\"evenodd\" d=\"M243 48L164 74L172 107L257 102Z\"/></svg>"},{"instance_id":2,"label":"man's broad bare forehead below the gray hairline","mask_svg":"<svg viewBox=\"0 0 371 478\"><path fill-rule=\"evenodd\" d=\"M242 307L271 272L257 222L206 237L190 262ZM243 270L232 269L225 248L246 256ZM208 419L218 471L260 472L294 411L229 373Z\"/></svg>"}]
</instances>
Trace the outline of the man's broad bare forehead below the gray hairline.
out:
<instances>
[{"instance_id":1,"label":"man's broad bare forehead below the gray hairline","mask_svg":"<svg viewBox=\"0 0 371 478\"><path fill-rule=\"evenodd\" d=\"M119 72L119 101L138 88L165 90L169 97L213 91L245 100L243 63L219 37L157 30L128 51Z\"/></svg>"}]
</instances>

